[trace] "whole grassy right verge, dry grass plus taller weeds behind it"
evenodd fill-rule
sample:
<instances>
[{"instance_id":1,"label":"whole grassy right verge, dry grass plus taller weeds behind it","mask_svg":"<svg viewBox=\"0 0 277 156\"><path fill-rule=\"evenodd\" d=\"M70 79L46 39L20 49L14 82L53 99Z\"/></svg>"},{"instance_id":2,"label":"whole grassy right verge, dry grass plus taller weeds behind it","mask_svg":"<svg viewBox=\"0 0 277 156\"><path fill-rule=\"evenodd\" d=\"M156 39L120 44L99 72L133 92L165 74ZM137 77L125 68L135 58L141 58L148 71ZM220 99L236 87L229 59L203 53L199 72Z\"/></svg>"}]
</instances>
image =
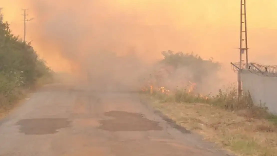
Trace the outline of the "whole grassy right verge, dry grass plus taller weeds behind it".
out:
<instances>
[{"instance_id":1,"label":"whole grassy right verge, dry grass plus taller weeds behind it","mask_svg":"<svg viewBox=\"0 0 277 156\"><path fill-rule=\"evenodd\" d=\"M162 92L152 86L144 93L155 109L224 149L243 156L277 155L277 117L254 106L249 95L238 100L235 88L215 96L194 94L190 87Z\"/></svg>"}]
</instances>

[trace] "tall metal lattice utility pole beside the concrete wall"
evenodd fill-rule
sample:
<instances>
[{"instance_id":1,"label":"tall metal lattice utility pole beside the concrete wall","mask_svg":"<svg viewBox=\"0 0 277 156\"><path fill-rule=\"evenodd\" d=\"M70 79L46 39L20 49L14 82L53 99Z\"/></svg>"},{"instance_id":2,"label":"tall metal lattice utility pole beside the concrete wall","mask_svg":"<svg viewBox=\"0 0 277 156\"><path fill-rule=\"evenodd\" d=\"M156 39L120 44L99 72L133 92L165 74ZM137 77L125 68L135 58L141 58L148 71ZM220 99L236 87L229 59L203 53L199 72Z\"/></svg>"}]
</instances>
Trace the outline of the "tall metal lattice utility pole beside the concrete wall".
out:
<instances>
[{"instance_id":1,"label":"tall metal lattice utility pole beside the concrete wall","mask_svg":"<svg viewBox=\"0 0 277 156\"><path fill-rule=\"evenodd\" d=\"M246 24L246 0L240 0L240 62L238 71L238 96L242 95L242 55L245 54L246 68L248 69L248 45L247 45L247 24Z\"/></svg>"}]
</instances>

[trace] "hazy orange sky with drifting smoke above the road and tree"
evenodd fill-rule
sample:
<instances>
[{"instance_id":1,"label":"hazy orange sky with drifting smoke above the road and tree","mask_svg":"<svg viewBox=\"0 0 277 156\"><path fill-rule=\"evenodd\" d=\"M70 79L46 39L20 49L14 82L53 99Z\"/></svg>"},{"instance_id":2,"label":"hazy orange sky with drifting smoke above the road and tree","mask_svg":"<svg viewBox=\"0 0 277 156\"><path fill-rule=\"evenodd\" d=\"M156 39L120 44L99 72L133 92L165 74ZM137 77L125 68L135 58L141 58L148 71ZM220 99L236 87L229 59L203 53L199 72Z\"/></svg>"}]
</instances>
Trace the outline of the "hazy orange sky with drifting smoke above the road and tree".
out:
<instances>
[{"instance_id":1,"label":"hazy orange sky with drifting smoke above the road and tree","mask_svg":"<svg viewBox=\"0 0 277 156\"><path fill-rule=\"evenodd\" d=\"M148 60L161 51L195 52L228 64L238 60L239 0L0 0L4 20L56 70L61 57L82 60L93 50L133 48ZM277 1L248 0L249 60L276 64ZM91 50L91 51L90 51ZM147 61L148 61L147 60Z\"/></svg>"}]
</instances>

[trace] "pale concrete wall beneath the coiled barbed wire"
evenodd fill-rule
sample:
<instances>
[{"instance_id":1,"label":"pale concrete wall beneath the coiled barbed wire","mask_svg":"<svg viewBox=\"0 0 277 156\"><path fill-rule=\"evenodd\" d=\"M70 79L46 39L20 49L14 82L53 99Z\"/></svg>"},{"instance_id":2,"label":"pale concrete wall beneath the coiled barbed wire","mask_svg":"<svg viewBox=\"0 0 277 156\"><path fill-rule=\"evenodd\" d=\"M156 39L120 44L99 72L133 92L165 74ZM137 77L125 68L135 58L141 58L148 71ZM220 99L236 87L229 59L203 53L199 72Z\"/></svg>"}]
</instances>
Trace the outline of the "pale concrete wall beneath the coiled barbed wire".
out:
<instances>
[{"instance_id":1,"label":"pale concrete wall beneath the coiled barbed wire","mask_svg":"<svg viewBox=\"0 0 277 156\"><path fill-rule=\"evenodd\" d=\"M242 71L243 93L250 92L254 104L265 103L268 111L277 114L277 77Z\"/></svg>"}]
</instances>

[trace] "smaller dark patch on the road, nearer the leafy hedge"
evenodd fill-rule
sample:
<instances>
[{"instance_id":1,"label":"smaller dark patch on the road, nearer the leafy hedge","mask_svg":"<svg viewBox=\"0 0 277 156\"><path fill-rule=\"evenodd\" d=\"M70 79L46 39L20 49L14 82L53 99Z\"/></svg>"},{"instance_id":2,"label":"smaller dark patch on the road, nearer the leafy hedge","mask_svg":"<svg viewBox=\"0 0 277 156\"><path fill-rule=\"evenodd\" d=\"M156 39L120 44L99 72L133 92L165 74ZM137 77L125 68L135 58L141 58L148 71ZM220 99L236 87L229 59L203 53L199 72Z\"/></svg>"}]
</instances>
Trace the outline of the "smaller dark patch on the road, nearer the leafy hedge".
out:
<instances>
[{"instance_id":1,"label":"smaller dark patch on the road, nearer the leafy hedge","mask_svg":"<svg viewBox=\"0 0 277 156\"><path fill-rule=\"evenodd\" d=\"M58 132L58 129L70 126L67 119L23 119L17 122L20 126L20 132L25 134L52 134Z\"/></svg>"}]
</instances>

